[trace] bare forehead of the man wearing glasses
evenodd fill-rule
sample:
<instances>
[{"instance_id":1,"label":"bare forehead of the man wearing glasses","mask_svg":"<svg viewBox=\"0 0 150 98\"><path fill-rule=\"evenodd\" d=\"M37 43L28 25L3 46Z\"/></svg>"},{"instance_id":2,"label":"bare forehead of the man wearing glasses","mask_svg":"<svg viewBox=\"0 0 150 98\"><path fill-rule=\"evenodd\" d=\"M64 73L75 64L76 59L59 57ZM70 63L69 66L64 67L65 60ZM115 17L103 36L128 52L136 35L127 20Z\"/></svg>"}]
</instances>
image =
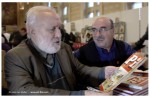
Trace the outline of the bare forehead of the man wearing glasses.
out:
<instances>
[{"instance_id":1,"label":"bare forehead of the man wearing glasses","mask_svg":"<svg viewBox=\"0 0 150 98\"><path fill-rule=\"evenodd\" d=\"M95 20L95 22L93 23L94 27L102 27L102 26L105 26L105 27L108 27L110 26L110 20L108 18L98 18Z\"/></svg>"}]
</instances>

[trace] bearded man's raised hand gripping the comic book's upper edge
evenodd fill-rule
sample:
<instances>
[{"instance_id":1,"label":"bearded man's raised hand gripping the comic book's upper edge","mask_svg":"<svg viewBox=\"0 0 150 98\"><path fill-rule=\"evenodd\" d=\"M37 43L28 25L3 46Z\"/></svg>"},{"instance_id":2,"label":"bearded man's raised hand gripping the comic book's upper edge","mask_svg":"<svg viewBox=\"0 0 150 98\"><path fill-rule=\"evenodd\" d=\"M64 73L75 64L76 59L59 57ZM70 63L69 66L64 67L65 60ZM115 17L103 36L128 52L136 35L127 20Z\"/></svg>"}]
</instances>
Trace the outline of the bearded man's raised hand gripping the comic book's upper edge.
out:
<instances>
[{"instance_id":1,"label":"bearded man's raised hand gripping the comic book's upper edge","mask_svg":"<svg viewBox=\"0 0 150 98\"><path fill-rule=\"evenodd\" d=\"M105 78L109 78L117 69L118 67L115 66L105 67Z\"/></svg>"}]
</instances>

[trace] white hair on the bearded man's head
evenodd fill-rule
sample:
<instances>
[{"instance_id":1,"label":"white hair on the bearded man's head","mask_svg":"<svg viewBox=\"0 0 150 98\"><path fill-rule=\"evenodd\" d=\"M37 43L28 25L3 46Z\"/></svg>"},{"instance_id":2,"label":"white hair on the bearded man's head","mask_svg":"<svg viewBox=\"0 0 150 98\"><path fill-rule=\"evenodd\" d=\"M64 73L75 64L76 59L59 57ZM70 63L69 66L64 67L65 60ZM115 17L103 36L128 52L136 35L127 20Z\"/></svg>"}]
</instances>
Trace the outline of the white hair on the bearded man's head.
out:
<instances>
[{"instance_id":1,"label":"white hair on the bearded man's head","mask_svg":"<svg viewBox=\"0 0 150 98\"><path fill-rule=\"evenodd\" d=\"M37 17L39 16L41 12L56 13L54 8L47 7L47 6L34 6L30 8L29 11L26 13L26 28L27 28L28 33L31 32L29 28L32 28L36 24Z\"/></svg>"}]
</instances>

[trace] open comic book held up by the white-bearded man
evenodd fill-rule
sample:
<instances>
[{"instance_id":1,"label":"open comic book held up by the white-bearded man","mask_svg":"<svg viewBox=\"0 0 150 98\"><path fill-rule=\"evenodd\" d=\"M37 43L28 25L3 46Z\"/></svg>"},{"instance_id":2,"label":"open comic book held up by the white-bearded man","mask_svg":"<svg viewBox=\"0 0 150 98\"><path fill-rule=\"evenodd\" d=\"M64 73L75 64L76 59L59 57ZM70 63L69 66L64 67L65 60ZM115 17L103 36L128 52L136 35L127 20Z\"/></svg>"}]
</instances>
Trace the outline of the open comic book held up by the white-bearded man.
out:
<instances>
[{"instance_id":1,"label":"open comic book held up by the white-bearded man","mask_svg":"<svg viewBox=\"0 0 150 98\"><path fill-rule=\"evenodd\" d=\"M147 57L141 52L132 54L111 77L99 85L100 91L110 92L115 89L120 83L127 80L146 60Z\"/></svg>"}]
</instances>

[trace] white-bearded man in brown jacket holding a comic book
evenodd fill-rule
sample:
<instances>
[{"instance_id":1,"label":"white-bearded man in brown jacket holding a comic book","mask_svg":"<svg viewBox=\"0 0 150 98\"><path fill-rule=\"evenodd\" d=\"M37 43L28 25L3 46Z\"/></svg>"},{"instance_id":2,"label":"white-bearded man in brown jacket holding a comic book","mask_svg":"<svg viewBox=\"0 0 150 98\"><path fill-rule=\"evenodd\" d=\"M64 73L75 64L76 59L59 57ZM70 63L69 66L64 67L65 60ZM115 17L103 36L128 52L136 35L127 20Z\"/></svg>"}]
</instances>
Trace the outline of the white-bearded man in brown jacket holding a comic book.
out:
<instances>
[{"instance_id":1,"label":"white-bearded man in brown jacket holding a comic book","mask_svg":"<svg viewBox=\"0 0 150 98\"><path fill-rule=\"evenodd\" d=\"M117 69L88 67L61 42L61 21L53 8L35 6L26 14L27 40L5 56L9 94L18 95L108 95L78 87L79 80L98 87Z\"/></svg>"}]
</instances>

